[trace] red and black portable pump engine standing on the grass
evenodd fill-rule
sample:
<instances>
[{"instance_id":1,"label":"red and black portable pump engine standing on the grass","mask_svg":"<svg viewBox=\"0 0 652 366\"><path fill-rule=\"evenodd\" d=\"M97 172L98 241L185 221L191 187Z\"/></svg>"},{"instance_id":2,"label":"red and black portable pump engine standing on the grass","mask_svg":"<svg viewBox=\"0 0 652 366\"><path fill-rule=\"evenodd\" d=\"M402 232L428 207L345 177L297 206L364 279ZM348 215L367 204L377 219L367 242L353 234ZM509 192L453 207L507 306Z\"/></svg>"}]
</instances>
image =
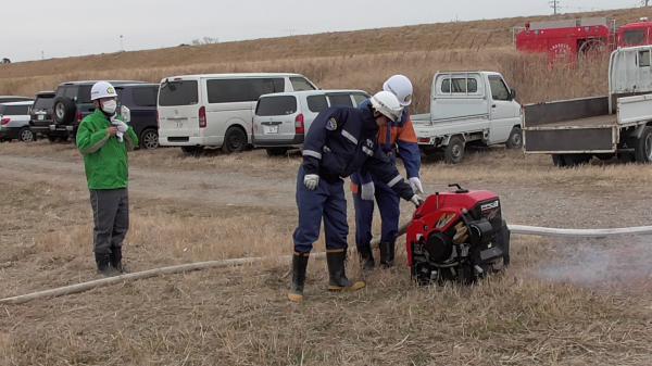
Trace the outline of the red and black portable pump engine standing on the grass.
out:
<instances>
[{"instance_id":1,"label":"red and black portable pump engine standing on the grass","mask_svg":"<svg viewBox=\"0 0 652 366\"><path fill-rule=\"evenodd\" d=\"M408 226L408 264L422 285L471 283L510 264L510 231L500 200L489 191L436 193Z\"/></svg>"}]
</instances>

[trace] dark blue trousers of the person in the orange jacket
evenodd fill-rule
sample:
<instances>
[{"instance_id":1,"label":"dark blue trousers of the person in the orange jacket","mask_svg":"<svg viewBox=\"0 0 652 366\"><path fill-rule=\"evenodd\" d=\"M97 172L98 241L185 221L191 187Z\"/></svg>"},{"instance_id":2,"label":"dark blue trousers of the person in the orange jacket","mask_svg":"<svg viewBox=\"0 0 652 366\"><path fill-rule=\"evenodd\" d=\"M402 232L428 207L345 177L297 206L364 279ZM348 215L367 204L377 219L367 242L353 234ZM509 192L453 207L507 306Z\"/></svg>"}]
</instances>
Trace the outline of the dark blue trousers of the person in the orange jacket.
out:
<instances>
[{"instance_id":1,"label":"dark blue trousers of the person in the orange jacket","mask_svg":"<svg viewBox=\"0 0 652 366\"><path fill-rule=\"evenodd\" d=\"M375 199L380 211L380 242L392 243L399 234L401 216L401 198L389 186L374 178ZM355 206L355 245L358 249L369 248L372 242L372 224L374 222L374 201L365 201L359 193L353 193Z\"/></svg>"}]
</instances>

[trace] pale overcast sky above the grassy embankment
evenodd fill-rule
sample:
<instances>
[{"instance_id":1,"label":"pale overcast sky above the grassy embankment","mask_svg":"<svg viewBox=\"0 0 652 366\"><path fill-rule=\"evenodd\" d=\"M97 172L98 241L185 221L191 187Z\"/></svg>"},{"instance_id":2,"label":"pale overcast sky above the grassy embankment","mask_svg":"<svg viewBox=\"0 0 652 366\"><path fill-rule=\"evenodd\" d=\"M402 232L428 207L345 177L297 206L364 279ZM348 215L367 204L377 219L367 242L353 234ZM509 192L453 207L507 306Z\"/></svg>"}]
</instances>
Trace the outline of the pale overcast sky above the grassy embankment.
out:
<instances>
[{"instance_id":1,"label":"pale overcast sky above the grassy embankment","mask_svg":"<svg viewBox=\"0 0 652 366\"><path fill-rule=\"evenodd\" d=\"M563 12L639 0L560 0ZM3 0L0 58L12 61L411 24L551 14L548 0Z\"/></svg>"}]
</instances>

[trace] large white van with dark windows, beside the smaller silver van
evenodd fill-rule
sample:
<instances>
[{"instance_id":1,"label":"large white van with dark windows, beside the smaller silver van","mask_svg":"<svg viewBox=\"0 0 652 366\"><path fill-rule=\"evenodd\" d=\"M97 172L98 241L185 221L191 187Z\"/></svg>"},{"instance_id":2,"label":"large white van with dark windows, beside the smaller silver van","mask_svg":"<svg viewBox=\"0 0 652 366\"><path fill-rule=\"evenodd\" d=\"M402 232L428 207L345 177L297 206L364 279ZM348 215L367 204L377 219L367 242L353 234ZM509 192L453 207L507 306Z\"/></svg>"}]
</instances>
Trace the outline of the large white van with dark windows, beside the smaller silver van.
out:
<instances>
[{"instance_id":1,"label":"large white van with dark windows, beside the smaller silver van","mask_svg":"<svg viewBox=\"0 0 652 366\"><path fill-rule=\"evenodd\" d=\"M251 143L261 94L315 90L300 74L206 74L166 77L159 88L159 141L197 153L204 147L242 151Z\"/></svg>"}]
</instances>

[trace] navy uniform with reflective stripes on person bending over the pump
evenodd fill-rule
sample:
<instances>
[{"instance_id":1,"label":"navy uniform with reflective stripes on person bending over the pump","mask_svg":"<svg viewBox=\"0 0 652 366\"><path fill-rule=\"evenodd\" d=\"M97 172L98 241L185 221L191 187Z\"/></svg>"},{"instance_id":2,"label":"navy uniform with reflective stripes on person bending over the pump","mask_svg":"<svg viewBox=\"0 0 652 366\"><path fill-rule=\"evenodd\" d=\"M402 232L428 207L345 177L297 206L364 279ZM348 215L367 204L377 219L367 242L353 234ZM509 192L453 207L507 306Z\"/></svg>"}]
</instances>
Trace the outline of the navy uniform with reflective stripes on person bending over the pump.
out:
<instances>
[{"instance_id":1,"label":"navy uniform with reflective stripes on person bending over the pump","mask_svg":"<svg viewBox=\"0 0 652 366\"><path fill-rule=\"evenodd\" d=\"M378 126L371 108L330 108L315 118L303 143L303 164L297 176L299 226L294 251L306 253L319 237L322 218L327 249L346 249L349 225L343 180L364 168L410 200L414 192L377 142ZM319 176L317 189L305 188L308 174Z\"/></svg>"}]
</instances>

